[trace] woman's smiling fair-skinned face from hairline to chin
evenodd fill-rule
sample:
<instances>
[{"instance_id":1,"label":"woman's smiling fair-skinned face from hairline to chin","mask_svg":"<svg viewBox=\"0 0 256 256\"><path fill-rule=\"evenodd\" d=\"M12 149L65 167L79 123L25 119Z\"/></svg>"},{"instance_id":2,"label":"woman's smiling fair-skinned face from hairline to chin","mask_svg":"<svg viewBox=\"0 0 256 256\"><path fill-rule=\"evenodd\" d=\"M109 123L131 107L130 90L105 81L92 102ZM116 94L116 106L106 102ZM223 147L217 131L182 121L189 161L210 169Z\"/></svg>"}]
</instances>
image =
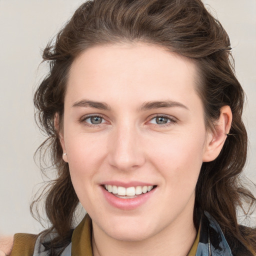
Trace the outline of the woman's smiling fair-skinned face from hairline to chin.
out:
<instances>
[{"instance_id":1,"label":"woman's smiling fair-skinned face from hairline to chin","mask_svg":"<svg viewBox=\"0 0 256 256\"><path fill-rule=\"evenodd\" d=\"M207 144L195 80L193 62L143 43L95 46L75 59L61 143L95 230L142 240L192 225Z\"/></svg>"}]
</instances>

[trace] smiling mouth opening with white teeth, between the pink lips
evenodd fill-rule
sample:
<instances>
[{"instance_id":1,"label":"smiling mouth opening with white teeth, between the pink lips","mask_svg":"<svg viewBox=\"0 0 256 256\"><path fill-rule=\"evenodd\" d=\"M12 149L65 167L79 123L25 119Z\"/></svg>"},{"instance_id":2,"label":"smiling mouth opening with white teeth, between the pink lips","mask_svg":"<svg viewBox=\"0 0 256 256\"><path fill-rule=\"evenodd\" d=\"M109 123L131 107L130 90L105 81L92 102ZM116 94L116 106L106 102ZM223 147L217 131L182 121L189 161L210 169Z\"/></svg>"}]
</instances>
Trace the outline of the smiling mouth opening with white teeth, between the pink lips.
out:
<instances>
[{"instance_id":1,"label":"smiling mouth opening with white teeth, between the pink lips","mask_svg":"<svg viewBox=\"0 0 256 256\"><path fill-rule=\"evenodd\" d=\"M123 187L123 186L116 186L110 184L104 184L104 189L109 193L113 194L116 197L128 199L128 198L135 198L140 194L145 194L151 191L156 187L156 185L150 186L130 186L130 187Z\"/></svg>"}]
</instances>

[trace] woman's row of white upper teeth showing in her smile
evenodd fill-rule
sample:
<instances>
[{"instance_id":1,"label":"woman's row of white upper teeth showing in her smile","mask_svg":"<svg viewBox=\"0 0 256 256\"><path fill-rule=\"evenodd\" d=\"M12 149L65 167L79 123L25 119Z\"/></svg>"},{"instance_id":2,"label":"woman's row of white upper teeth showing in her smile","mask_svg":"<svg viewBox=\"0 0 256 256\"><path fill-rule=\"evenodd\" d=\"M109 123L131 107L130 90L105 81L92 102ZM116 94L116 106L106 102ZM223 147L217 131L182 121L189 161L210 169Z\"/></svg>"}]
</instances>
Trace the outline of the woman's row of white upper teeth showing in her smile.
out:
<instances>
[{"instance_id":1,"label":"woman's row of white upper teeth showing in her smile","mask_svg":"<svg viewBox=\"0 0 256 256\"><path fill-rule=\"evenodd\" d=\"M105 188L109 193L132 196L149 192L153 186L130 186L125 188L123 186L105 185Z\"/></svg>"}]
</instances>

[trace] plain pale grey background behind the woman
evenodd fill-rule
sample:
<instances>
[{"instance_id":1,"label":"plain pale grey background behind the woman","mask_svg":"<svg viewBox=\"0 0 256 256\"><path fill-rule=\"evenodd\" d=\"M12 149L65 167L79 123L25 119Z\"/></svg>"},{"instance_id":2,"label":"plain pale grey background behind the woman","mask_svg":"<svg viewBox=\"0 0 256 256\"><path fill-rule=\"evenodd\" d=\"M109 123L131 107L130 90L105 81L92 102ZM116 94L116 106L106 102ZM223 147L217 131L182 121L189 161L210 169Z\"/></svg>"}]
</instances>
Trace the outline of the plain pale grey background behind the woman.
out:
<instances>
[{"instance_id":1,"label":"plain pale grey background behind the woman","mask_svg":"<svg viewBox=\"0 0 256 256\"><path fill-rule=\"evenodd\" d=\"M38 233L30 215L42 181L33 153L43 140L32 95L47 71L41 49L83 0L0 0L0 234ZM203 0L231 40L236 74L246 94L249 135L246 175L256 182L256 0ZM255 214L254 214L255 217Z\"/></svg>"}]
</instances>

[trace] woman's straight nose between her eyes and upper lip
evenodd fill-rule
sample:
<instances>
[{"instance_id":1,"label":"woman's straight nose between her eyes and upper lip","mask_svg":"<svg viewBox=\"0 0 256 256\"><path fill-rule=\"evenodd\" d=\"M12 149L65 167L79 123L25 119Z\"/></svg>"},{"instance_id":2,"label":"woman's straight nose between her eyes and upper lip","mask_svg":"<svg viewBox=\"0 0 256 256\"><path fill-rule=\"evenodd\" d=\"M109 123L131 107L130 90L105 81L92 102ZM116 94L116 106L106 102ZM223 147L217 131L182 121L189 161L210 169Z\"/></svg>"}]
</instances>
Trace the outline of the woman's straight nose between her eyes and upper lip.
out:
<instances>
[{"instance_id":1,"label":"woman's straight nose between her eyes and upper lip","mask_svg":"<svg viewBox=\"0 0 256 256\"><path fill-rule=\"evenodd\" d=\"M145 162L141 136L136 127L132 125L115 127L108 145L108 162L118 170L133 170Z\"/></svg>"}]
</instances>

